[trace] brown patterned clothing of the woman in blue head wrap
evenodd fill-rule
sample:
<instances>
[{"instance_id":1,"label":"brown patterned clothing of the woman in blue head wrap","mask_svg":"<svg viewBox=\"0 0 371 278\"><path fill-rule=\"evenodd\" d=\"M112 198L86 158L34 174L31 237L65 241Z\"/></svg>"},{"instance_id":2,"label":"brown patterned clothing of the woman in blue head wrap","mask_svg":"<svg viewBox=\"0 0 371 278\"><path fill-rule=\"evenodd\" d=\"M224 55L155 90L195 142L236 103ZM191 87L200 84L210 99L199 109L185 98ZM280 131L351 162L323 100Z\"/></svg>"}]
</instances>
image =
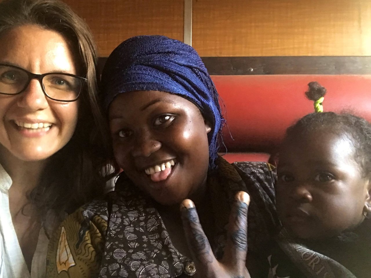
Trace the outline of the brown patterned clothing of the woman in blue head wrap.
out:
<instances>
[{"instance_id":1,"label":"brown patterned clothing of the woman in blue head wrap","mask_svg":"<svg viewBox=\"0 0 371 278\"><path fill-rule=\"evenodd\" d=\"M278 225L274 169L266 163L229 164L221 157L216 162L218 170L207 179L216 231L210 239L214 254L223 255L230 207L235 193L244 190L251 196L247 267L252 277L266 278L265 244ZM151 200L124 175L115 190L62 223L49 244L47 277L187 277L192 262L174 248Z\"/></svg>"}]
</instances>

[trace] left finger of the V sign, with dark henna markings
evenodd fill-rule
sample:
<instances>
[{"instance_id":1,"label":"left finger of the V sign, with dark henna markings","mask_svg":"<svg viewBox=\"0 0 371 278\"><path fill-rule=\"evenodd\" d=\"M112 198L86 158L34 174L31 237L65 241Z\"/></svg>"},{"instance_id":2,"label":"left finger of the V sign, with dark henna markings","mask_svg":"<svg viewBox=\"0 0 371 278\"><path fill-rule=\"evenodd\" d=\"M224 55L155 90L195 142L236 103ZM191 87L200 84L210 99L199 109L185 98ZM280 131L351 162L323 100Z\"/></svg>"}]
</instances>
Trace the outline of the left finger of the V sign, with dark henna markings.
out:
<instances>
[{"instance_id":1,"label":"left finger of the V sign, with dark henna markings","mask_svg":"<svg viewBox=\"0 0 371 278\"><path fill-rule=\"evenodd\" d=\"M187 239L188 247L194 256L195 263L197 261L203 264L204 267L216 261L216 258L211 250L209 240L207 239L198 218L194 203L185 199L180 205L181 216L185 238Z\"/></svg>"}]
</instances>

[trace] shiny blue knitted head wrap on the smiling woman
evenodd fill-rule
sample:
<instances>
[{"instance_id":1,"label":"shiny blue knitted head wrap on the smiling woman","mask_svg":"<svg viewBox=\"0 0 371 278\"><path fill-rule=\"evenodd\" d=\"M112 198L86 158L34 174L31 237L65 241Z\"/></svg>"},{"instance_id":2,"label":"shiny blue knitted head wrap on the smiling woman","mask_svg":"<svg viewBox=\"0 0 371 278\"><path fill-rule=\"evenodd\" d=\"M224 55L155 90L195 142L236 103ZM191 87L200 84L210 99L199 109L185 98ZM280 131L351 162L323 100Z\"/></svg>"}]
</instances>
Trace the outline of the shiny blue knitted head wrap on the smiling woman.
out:
<instances>
[{"instance_id":1,"label":"shiny blue knitted head wrap on the smiling woman","mask_svg":"<svg viewBox=\"0 0 371 278\"><path fill-rule=\"evenodd\" d=\"M109 55L102 72L104 104L131 91L162 91L193 102L210 123L209 167L215 168L221 116L219 96L196 50L165 36L137 36L122 42Z\"/></svg>"}]
</instances>

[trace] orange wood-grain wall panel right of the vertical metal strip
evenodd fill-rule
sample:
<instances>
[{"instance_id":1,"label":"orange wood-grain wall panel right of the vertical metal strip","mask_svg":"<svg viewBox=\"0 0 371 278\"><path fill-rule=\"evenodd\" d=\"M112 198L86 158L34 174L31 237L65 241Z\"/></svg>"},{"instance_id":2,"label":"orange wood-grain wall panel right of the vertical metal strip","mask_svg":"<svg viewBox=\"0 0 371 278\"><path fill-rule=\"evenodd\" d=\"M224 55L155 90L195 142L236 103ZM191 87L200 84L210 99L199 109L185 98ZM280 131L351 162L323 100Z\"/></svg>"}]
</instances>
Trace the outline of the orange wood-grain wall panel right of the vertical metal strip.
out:
<instances>
[{"instance_id":1,"label":"orange wood-grain wall panel right of the vertical metal strip","mask_svg":"<svg viewBox=\"0 0 371 278\"><path fill-rule=\"evenodd\" d=\"M371 55L370 0L193 0L201 56Z\"/></svg>"}]
</instances>

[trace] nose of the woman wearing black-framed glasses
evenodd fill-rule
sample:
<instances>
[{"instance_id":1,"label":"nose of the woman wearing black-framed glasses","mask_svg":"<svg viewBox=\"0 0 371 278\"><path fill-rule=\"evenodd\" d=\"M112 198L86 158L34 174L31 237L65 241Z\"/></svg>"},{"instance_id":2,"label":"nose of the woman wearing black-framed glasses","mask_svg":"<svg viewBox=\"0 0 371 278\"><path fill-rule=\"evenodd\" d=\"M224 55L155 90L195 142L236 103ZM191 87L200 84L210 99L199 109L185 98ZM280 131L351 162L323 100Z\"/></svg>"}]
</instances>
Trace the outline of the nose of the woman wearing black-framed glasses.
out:
<instances>
[{"instance_id":1,"label":"nose of the woman wearing black-framed glasses","mask_svg":"<svg viewBox=\"0 0 371 278\"><path fill-rule=\"evenodd\" d=\"M29 111L46 109L49 103L41 86L42 84L38 80L32 79L27 85L27 88L21 94L17 95L18 106Z\"/></svg>"}]
</instances>

